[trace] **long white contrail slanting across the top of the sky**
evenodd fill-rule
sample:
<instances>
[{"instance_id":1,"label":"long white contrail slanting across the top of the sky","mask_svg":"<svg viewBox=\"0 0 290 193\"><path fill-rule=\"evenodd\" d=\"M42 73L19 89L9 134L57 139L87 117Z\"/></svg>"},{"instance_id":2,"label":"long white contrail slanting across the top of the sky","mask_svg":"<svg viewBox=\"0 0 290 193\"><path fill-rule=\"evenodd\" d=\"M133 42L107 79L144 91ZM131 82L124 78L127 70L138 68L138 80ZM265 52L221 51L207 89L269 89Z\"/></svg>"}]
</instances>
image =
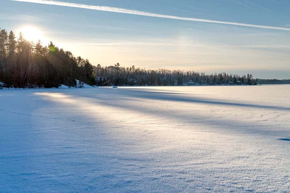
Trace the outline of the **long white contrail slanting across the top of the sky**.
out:
<instances>
[{"instance_id":1,"label":"long white contrail slanting across the top of the sky","mask_svg":"<svg viewBox=\"0 0 290 193\"><path fill-rule=\"evenodd\" d=\"M215 20L197 19L197 18L190 18L190 17L178 17L178 16L172 16L172 15L162 15L162 14L143 12L143 11L131 10L131 9L116 8L116 7L108 7L108 6L84 5L84 4L78 4L78 3L68 3L68 2L52 1L52 0L10 0L10 1L41 3L41 4L48 4L48 5L59 5L59 6L66 6L66 7L93 9L93 10L99 10L99 11L110 11L110 12L127 13L127 14L134 14L134 15L144 15L144 16L150 16L150 17L179 19L179 20L187 20L187 21L200 21L200 22L207 22L207 23L222 23L222 24L228 24L228 25L240 25L240 26L247 26L247 27L259 27L259 28L266 28L266 29L290 31L290 28L285 28L285 27L254 25L254 24L235 23L235 22L226 22L226 21L215 21Z\"/></svg>"}]
</instances>

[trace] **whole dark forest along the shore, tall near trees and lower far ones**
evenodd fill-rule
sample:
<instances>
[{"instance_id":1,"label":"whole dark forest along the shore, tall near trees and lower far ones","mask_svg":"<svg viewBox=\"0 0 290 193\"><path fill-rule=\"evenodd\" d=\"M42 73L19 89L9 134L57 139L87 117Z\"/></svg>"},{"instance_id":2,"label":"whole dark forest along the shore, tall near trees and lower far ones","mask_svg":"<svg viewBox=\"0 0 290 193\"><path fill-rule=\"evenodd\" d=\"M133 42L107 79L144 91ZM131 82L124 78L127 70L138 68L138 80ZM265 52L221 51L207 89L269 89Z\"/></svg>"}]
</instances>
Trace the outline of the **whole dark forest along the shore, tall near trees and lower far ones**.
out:
<instances>
[{"instance_id":1,"label":"whole dark forest along the shore, tall near trees and lower far ones","mask_svg":"<svg viewBox=\"0 0 290 193\"><path fill-rule=\"evenodd\" d=\"M262 83L251 74L232 75L215 73L206 75L194 71L145 70L135 66L93 66L88 59L73 56L52 42L43 46L27 41L23 34L0 31L0 82L5 87L34 88L76 87L77 81L97 86L178 86L178 85L255 85ZM0 85L1 86L1 85Z\"/></svg>"}]
</instances>

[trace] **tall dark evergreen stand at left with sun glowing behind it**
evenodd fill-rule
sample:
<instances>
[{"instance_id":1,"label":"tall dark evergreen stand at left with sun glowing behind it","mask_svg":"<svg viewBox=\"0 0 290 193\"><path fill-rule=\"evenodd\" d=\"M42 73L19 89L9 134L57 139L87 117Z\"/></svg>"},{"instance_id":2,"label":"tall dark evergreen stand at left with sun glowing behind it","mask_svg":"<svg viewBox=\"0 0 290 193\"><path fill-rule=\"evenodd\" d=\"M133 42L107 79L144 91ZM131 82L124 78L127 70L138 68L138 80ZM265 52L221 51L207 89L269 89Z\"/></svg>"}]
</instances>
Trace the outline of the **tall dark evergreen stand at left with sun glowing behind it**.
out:
<instances>
[{"instance_id":1,"label":"tall dark evergreen stand at left with sun glowing behind it","mask_svg":"<svg viewBox=\"0 0 290 193\"><path fill-rule=\"evenodd\" d=\"M75 57L59 49L52 42L43 46L41 41L30 42L20 32L0 31L0 81L8 87L59 87L81 83L96 84L93 65L87 59Z\"/></svg>"}]
</instances>

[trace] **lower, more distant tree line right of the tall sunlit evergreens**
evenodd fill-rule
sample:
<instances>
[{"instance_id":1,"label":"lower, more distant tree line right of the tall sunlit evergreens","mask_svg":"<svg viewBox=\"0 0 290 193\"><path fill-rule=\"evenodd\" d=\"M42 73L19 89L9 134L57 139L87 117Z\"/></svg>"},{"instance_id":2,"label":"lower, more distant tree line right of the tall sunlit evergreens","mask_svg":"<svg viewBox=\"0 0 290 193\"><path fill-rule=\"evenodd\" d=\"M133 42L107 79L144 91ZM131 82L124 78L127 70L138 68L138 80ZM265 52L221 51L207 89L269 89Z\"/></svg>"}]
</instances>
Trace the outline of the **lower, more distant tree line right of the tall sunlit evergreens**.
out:
<instances>
[{"instance_id":1,"label":"lower, more distant tree line right of the tall sunlit evergreens","mask_svg":"<svg viewBox=\"0 0 290 193\"><path fill-rule=\"evenodd\" d=\"M206 75L194 71L181 70L146 70L131 67L115 66L95 67L95 74L98 86L185 86L185 85L226 85L226 84L257 84L251 74L247 76L232 75L227 73L215 73Z\"/></svg>"}]
</instances>

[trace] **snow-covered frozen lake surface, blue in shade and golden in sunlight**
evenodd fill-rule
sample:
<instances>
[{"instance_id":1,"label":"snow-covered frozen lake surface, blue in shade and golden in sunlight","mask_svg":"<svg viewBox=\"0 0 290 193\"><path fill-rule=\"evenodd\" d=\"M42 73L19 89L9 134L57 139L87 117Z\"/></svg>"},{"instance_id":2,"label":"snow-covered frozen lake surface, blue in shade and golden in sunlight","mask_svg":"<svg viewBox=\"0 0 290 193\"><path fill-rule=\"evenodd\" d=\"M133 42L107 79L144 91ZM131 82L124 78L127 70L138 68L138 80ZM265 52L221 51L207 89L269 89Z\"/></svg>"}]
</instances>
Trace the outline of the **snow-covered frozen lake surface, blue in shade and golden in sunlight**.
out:
<instances>
[{"instance_id":1,"label":"snow-covered frozen lake surface, blue in shade and golden in sunlight","mask_svg":"<svg viewBox=\"0 0 290 193\"><path fill-rule=\"evenodd\" d=\"M0 192L288 192L290 85L0 90Z\"/></svg>"}]
</instances>

